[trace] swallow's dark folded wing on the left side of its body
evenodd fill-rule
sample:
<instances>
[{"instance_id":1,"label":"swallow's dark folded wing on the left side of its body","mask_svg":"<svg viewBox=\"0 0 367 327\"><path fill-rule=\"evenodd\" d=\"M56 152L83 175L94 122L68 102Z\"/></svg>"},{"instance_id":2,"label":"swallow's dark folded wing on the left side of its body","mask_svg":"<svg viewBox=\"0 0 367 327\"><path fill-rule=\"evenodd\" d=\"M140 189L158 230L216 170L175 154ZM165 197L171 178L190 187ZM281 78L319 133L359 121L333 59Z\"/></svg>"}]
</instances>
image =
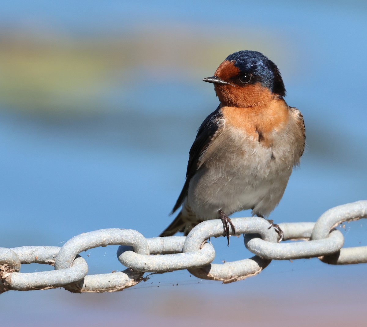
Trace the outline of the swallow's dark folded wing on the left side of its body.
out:
<instances>
[{"instance_id":1,"label":"swallow's dark folded wing on the left side of its body","mask_svg":"<svg viewBox=\"0 0 367 327\"><path fill-rule=\"evenodd\" d=\"M214 136L215 132L218 129L218 122L222 117L222 112L220 110L220 105L218 106L215 111L213 111L201 124L199 129L197 130L197 135L194 143L189 152L189 162L187 165L186 171L186 181L183 185L182 191L177 199L175 206L172 209L172 213L174 213L182 204L183 200L189 190L189 183L192 176L194 176L197 170L197 163L201 154L206 150L208 144L212 137Z\"/></svg>"}]
</instances>

